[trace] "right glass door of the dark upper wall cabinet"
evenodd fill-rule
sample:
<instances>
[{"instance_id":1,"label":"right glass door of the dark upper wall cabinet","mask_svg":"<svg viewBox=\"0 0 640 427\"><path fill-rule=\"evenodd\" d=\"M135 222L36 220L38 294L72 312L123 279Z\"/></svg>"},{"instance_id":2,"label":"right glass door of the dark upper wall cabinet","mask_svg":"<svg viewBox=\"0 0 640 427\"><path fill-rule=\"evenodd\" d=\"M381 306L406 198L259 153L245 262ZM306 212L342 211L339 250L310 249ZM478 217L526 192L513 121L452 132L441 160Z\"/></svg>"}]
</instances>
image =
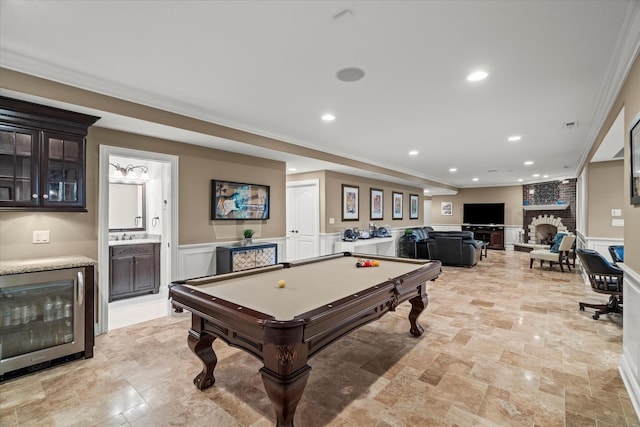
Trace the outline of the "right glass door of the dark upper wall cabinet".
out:
<instances>
[{"instance_id":1,"label":"right glass door of the dark upper wall cabinet","mask_svg":"<svg viewBox=\"0 0 640 427\"><path fill-rule=\"evenodd\" d=\"M43 205L83 206L84 155L82 140L66 135L44 134L45 186Z\"/></svg>"}]
</instances>

